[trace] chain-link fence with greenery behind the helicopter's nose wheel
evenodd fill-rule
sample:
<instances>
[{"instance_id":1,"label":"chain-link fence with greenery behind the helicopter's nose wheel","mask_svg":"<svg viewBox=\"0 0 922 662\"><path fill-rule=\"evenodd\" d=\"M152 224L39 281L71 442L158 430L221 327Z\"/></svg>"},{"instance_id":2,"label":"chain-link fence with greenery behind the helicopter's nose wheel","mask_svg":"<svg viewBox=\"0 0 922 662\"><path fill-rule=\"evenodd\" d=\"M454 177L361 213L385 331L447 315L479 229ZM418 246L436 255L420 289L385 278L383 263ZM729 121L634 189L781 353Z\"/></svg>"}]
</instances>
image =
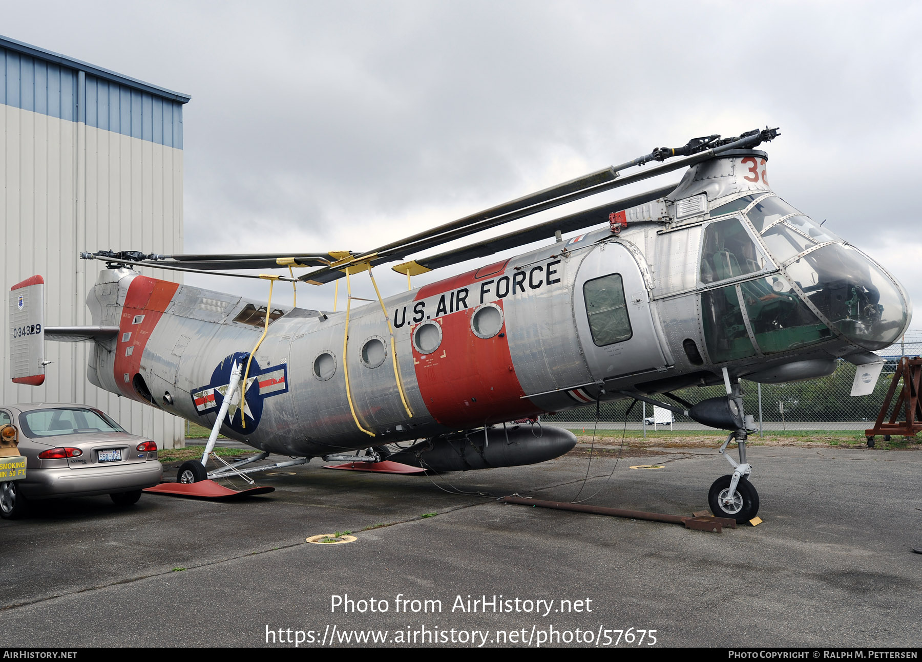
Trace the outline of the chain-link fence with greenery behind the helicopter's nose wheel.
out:
<instances>
[{"instance_id":1,"label":"chain-link fence with greenery behind the helicopter's nose wheel","mask_svg":"<svg viewBox=\"0 0 922 662\"><path fill-rule=\"evenodd\" d=\"M874 392L869 396L850 396L856 368L840 359L835 372L821 379L790 384L755 384L742 380L743 408L746 414L751 414L760 429L766 432L854 431L855 434L863 434L864 430L873 427L874 421L877 420L897 362L904 356L922 355L922 331L907 331L900 342L876 353L886 359L887 363ZM704 388L690 387L675 392L676 396L692 403L725 394L723 384ZM669 402L665 396L664 401ZM624 425L625 414L632 404L632 400L601 403L599 425L621 428ZM668 414L666 416L668 417ZM671 426L666 425L666 430L709 430L680 414L672 416L673 423ZM900 418L902 420L902 417ZM555 424L573 422L583 427L584 423L596 420L596 406L562 411L552 416L543 416L541 420ZM628 415L627 428L652 430L654 422L656 421L653 407L637 403ZM656 429L664 428L656 424Z\"/></svg>"}]
</instances>

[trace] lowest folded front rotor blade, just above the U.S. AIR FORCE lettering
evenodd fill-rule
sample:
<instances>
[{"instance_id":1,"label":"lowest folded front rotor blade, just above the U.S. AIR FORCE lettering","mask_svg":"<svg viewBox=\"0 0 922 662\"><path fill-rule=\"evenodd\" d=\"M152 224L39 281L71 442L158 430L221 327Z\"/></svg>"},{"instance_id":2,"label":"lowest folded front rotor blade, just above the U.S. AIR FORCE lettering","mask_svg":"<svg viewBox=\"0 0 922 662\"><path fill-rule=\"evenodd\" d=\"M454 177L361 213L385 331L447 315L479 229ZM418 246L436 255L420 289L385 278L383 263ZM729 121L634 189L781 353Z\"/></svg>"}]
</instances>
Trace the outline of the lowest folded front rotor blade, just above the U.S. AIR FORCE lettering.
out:
<instances>
[{"instance_id":1,"label":"lowest folded front rotor blade, just above the U.S. AIR FORCE lettering","mask_svg":"<svg viewBox=\"0 0 922 662\"><path fill-rule=\"evenodd\" d=\"M540 223L526 228L525 230L509 232L499 237L486 239L482 242L471 243L453 251L446 251L437 255L420 257L402 265L391 267L399 274L406 274L410 271L410 276L426 273L432 269L438 269L442 266L456 265L459 262L466 262L476 257L484 257L494 253L499 253L509 248L525 245L526 243L539 242L542 239L549 239L557 232L565 233L575 230L582 230L593 225L600 225L609 221L609 214L614 211L623 211L637 205L643 205L645 202L651 202L664 195L668 195L675 190L679 183L673 183L662 188L647 191L632 197L626 197L622 200L615 200L606 205L599 205L584 211L578 211L569 216L563 216L560 219L549 220L546 223ZM421 267L421 268L420 268Z\"/></svg>"}]
</instances>

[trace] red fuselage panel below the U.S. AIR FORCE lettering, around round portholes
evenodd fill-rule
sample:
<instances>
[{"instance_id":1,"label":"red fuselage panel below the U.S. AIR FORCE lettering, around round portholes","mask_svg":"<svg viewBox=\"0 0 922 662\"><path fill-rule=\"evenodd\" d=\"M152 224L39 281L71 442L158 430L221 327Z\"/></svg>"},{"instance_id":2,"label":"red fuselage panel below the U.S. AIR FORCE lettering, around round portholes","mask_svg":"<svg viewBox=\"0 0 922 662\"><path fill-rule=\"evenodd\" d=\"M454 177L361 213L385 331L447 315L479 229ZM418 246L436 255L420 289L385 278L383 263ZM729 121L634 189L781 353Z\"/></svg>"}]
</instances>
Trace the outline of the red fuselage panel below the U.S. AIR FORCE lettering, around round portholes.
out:
<instances>
[{"instance_id":1,"label":"red fuselage panel below the U.S. AIR FORCE lettering, around round portholes","mask_svg":"<svg viewBox=\"0 0 922 662\"><path fill-rule=\"evenodd\" d=\"M479 338L470 328L471 313L467 309L435 320L442 325L442 343L431 354L413 348L420 395L429 413L443 425L459 428L539 413L522 399L525 391L515 376L505 324L503 337Z\"/></svg>"}]
</instances>

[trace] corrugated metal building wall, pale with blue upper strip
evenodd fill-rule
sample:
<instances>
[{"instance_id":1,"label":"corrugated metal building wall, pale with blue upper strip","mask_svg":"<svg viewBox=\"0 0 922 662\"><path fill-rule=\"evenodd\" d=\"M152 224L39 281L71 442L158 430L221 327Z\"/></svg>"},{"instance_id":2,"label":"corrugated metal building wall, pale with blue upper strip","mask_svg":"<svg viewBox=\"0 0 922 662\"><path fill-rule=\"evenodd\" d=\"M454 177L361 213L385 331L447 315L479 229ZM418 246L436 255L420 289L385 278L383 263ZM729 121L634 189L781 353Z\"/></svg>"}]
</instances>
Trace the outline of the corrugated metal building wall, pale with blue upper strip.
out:
<instances>
[{"instance_id":1,"label":"corrugated metal building wall, pale with blue upper strip","mask_svg":"<svg viewBox=\"0 0 922 662\"><path fill-rule=\"evenodd\" d=\"M4 48L0 76L3 327L6 292L33 274L45 278L47 325L91 324L85 300L101 263L79 251L182 252L182 103ZM4 402L86 403L161 447L182 444L183 420L87 382L85 343L47 343L45 384L13 384L8 333Z\"/></svg>"}]
</instances>

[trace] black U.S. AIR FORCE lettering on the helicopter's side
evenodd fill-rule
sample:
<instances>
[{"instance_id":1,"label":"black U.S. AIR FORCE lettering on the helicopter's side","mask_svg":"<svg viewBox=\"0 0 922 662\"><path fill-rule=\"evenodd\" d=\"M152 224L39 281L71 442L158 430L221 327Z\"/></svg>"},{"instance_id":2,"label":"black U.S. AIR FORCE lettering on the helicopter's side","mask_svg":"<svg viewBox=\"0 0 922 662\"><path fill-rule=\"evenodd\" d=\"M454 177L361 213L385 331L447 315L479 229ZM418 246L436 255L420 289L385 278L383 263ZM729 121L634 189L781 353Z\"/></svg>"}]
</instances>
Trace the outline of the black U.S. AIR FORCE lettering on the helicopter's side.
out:
<instances>
[{"instance_id":1,"label":"black U.S. AIR FORCE lettering on the helicopter's side","mask_svg":"<svg viewBox=\"0 0 922 662\"><path fill-rule=\"evenodd\" d=\"M490 278L489 280L482 280L477 285L472 285L469 288L459 288L458 290L445 292L439 296L438 301L432 300L435 301L435 313L426 313L426 301L417 301L413 304L412 317L409 321L417 324L424 319L455 313L455 311L464 310L472 305L479 305L484 301L505 299L508 296L524 293L526 290L540 290L548 285L554 285L561 282L557 269L560 264L560 260L551 260L544 265L535 265L530 268L524 267L509 276ZM475 290L475 294L478 293L477 290L479 289L479 297L477 297L479 301L477 303L474 303L476 300L471 297L472 289ZM471 301L468 302L468 299L471 299ZM408 308L408 305L402 306L394 311L394 325L396 328L407 324Z\"/></svg>"}]
</instances>

